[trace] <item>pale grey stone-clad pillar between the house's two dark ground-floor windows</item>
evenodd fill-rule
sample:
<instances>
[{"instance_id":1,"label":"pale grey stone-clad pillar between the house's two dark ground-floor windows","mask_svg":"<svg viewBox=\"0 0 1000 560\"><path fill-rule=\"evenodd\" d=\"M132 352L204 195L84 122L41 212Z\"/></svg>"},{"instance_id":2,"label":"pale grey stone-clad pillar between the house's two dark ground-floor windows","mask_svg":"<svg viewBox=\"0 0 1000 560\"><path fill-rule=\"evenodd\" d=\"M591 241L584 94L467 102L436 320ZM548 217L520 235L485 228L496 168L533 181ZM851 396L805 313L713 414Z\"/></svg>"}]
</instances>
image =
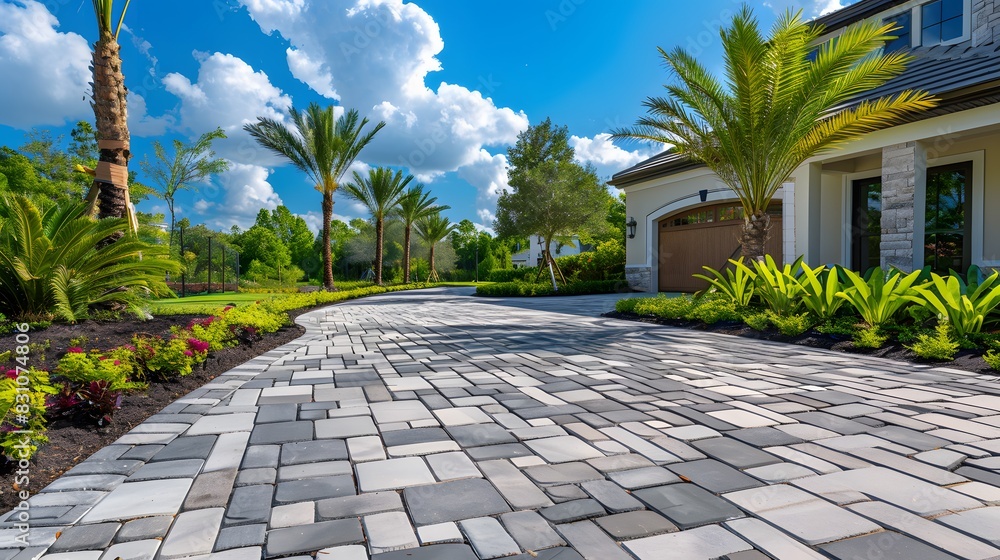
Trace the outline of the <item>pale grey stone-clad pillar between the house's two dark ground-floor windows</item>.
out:
<instances>
[{"instance_id":1,"label":"pale grey stone-clad pillar between the house's two dark ground-floor windows","mask_svg":"<svg viewBox=\"0 0 1000 560\"><path fill-rule=\"evenodd\" d=\"M919 181L926 177L921 151L916 142L882 148L882 268L914 268L914 238L923 237L914 222L917 191L926 186ZM922 245L918 240L916 246Z\"/></svg>"}]
</instances>

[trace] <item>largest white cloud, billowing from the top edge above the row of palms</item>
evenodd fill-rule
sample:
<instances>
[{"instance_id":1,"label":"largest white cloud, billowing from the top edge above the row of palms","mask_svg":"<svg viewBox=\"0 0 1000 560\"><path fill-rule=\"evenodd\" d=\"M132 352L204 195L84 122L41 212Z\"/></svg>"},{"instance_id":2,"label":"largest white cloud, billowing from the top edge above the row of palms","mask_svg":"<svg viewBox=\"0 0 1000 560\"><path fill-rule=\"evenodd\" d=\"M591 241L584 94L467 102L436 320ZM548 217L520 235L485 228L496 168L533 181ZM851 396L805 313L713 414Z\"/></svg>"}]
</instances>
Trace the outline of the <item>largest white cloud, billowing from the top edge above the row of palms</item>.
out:
<instances>
[{"instance_id":1,"label":"largest white cloud, billowing from the top edge above the row of palms","mask_svg":"<svg viewBox=\"0 0 1000 560\"><path fill-rule=\"evenodd\" d=\"M437 22L402 0L241 0L265 33L290 43L292 74L320 95L357 108L386 128L366 161L405 166L422 180L476 163L484 146L513 143L523 112L478 91L426 84L444 48ZM359 76L377 77L358 79Z\"/></svg>"}]
</instances>

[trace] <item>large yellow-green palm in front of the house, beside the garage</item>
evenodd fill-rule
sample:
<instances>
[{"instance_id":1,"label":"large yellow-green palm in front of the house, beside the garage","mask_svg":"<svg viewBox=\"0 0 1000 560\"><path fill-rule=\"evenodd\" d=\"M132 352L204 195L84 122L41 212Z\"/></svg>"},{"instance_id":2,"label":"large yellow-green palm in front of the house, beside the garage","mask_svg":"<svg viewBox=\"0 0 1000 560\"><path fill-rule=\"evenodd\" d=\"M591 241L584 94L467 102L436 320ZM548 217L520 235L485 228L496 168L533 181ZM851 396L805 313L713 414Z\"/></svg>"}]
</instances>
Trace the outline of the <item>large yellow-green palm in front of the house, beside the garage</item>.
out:
<instances>
[{"instance_id":1,"label":"large yellow-green palm in front of the house, beside the garage","mask_svg":"<svg viewBox=\"0 0 1000 560\"><path fill-rule=\"evenodd\" d=\"M898 76L911 59L879 51L894 26L863 21L817 47L823 28L804 22L801 11L786 11L766 38L744 6L721 31L725 83L683 49L660 49L679 83L666 86L666 98L648 98L648 115L613 137L673 144L704 162L743 204L743 255L762 259L767 207L797 167L935 105L926 92L911 90L858 101Z\"/></svg>"}]
</instances>

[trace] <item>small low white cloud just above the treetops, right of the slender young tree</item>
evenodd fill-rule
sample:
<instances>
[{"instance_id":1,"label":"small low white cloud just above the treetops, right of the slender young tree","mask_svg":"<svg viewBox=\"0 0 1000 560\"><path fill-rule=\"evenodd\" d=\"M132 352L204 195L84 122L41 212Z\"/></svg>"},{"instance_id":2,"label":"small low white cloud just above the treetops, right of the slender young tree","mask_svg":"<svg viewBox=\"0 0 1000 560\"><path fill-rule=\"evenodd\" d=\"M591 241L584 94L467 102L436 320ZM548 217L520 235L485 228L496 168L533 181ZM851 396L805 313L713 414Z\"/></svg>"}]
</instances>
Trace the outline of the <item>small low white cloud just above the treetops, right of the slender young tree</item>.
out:
<instances>
[{"instance_id":1,"label":"small low white cloud just above the treetops, right of the slender young tree","mask_svg":"<svg viewBox=\"0 0 1000 560\"><path fill-rule=\"evenodd\" d=\"M249 228L262 208L274 210L281 205L281 197L267 180L269 174L259 165L230 162L229 170L218 175L218 187L210 185L198 191L194 210L210 226Z\"/></svg>"}]
</instances>

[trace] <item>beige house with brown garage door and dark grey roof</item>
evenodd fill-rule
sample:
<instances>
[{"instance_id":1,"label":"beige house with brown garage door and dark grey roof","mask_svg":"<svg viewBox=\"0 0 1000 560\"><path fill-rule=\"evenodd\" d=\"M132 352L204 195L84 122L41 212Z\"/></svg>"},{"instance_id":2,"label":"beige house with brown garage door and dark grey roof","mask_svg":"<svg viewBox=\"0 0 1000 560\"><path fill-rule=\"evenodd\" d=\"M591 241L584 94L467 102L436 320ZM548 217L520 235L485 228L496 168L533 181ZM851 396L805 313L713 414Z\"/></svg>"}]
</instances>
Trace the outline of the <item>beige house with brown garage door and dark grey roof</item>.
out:
<instances>
[{"instance_id":1,"label":"beige house with brown garage door and dark grey roof","mask_svg":"<svg viewBox=\"0 0 1000 560\"><path fill-rule=\"evenodd\" d=\"M923 89L939 104L800 166L769 209L767 252L861 271L1000 266L1000 0L861 0L817 22L827 40L867 18L900 25L884 48L915 57L867 96ZM742 208L704 165L665 152L610 182L635 221L633 288L697 290L702 265L739 255Z\"/></svg>"}]
</instances>

